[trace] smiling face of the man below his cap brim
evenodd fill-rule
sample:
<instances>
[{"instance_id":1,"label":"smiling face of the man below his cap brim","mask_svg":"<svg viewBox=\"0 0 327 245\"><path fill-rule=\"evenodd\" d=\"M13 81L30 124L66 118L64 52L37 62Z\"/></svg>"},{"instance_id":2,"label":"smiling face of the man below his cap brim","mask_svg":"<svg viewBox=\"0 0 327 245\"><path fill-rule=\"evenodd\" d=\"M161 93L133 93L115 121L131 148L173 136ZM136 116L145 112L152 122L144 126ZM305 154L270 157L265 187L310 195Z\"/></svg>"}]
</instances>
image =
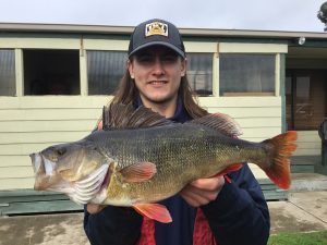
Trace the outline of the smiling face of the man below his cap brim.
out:
<instances>
[{"instance_id":1,"label":"smiling face of the man below his cap brim","mask_svg":"<svg viewBox=\"0 0 327 245\"><path fill-rule=\"evenodd\" d=\"M135 53L129 71L145 106L175 102L186 60L169 48L154 46Z\"/></svg>"}]
</instances>

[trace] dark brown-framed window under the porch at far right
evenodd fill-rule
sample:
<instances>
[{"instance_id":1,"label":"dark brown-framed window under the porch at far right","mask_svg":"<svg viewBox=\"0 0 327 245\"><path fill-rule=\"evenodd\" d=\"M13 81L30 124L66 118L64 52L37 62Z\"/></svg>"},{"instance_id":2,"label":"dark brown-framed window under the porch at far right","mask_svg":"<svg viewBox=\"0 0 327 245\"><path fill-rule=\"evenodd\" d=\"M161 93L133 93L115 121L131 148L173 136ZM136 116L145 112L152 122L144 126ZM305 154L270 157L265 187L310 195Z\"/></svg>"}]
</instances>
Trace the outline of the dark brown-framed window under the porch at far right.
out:
<instances>
[{"instance_id":1,"label":"dark brown-framed window under the porch at far right","mask_svg":"<svg viewBox=\"0 0 327 245\"><path fill-rule=\"evenodd\" d=\"M316 131L327 117L327 71L288 70L286 107L288 130Z\"/></svg>"}]
</instances>

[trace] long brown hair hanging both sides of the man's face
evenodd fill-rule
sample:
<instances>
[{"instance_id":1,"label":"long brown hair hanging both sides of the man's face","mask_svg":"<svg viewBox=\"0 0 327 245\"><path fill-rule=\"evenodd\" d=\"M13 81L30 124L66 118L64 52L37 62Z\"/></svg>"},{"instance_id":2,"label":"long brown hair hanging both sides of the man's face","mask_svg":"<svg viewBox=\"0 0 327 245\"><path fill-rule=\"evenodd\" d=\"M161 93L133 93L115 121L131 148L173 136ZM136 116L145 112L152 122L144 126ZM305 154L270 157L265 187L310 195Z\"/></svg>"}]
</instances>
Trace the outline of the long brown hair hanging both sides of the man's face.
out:
<instances>
[{"instance_id":1,"label":"long brown hair hanging both sides of the man's face","mask_svg":"<svg viewBox=\"0 0 327 245\"><path fill-rule=\"evenodd\" d=\"M132 79L129 70L126 69L125 74L120 81L119 87L117 88L113 99L110 101L110 103L128 105L133 102L137 95L138 89L136 88L135 83ZM191 118L196 119L208 113L205 109L198 106L197 97L189 85L186 74L181 78L179 96L181 96L183 105Z\"/></svg>"}]
</instances>

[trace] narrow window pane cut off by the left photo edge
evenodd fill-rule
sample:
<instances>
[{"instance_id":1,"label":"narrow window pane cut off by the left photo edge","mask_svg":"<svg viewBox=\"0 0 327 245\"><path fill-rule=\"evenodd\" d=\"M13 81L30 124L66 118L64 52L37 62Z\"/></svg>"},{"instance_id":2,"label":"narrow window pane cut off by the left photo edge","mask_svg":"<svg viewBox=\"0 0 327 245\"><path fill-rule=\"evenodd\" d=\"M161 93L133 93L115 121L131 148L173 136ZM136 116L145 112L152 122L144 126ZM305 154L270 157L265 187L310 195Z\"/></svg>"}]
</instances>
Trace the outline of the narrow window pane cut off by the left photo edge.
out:
<instances>
[{"instance_id":1,"label":"narrow window pane cut off by the left photo edge","mask_svg":"<svg viewBox=\"0 0 327 245\"><path fill-rule=\"evenodd\" d=\"M0 50L0 96L14 96L15 90L15 52Z\"/></svg>"}]
</instances>

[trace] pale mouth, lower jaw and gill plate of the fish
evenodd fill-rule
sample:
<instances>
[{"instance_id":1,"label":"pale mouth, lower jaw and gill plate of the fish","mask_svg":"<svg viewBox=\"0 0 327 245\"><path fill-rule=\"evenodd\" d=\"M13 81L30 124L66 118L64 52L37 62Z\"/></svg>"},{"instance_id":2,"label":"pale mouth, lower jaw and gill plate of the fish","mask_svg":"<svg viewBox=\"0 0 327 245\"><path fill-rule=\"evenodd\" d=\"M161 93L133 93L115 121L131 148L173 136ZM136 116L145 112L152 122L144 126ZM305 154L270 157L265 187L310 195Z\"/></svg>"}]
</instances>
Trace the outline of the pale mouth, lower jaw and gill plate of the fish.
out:
<instances>
[{"instance_id":1,"label":"pale mouth, lower jaw and gill plate of the fish","mask_svg":"<svg viewBox=\"0 0 327 245\"><path fill-rule=\"evenodd\" d=\"M82 180L69 182L60 176L56 171L56 162L47 159L41 154L31 154L32 166L35 173L34 189L53 191L66 194L77 204L87 204L96 198L101 201L105 197L98 195L106 189L109 177L109 164L101 164Z\"/></svg>"}]
</instances>

